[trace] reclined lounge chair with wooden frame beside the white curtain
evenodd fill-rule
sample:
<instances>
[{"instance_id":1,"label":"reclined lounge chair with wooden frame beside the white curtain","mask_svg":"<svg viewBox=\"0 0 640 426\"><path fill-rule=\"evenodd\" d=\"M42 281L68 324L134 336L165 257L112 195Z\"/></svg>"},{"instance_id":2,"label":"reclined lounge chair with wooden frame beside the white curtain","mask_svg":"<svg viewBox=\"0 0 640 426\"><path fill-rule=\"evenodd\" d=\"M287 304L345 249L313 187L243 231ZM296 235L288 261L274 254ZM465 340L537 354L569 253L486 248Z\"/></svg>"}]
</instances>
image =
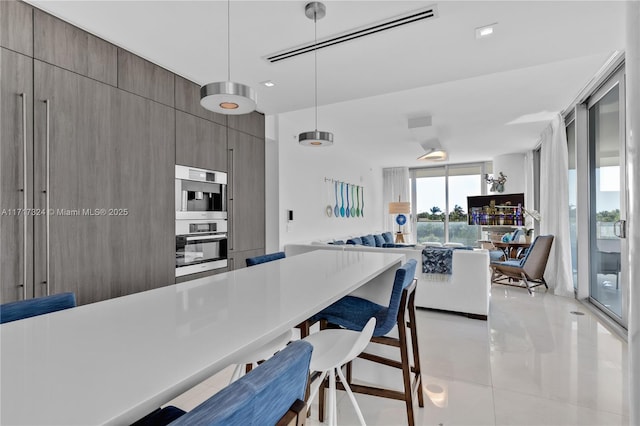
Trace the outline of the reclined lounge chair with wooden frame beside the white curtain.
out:
<instances>
[{"instance_id":1,"label":"reclined lounge chair with wooden frame beside the white curtain","mask_svg":"<svg viewBox=\"0 0 640 426\"><path fill-rule=\"evenodd\" d=\"M526 288L529 294L533 294L532 288L541 285L548 289L549 286L544 279L544 270L547 267L552 244L553 235L539 235L522 259L491 262L489 264L492 271L491 282ZM520 284L521 281L524 285Z\"/></svg>"}]
</instances>

